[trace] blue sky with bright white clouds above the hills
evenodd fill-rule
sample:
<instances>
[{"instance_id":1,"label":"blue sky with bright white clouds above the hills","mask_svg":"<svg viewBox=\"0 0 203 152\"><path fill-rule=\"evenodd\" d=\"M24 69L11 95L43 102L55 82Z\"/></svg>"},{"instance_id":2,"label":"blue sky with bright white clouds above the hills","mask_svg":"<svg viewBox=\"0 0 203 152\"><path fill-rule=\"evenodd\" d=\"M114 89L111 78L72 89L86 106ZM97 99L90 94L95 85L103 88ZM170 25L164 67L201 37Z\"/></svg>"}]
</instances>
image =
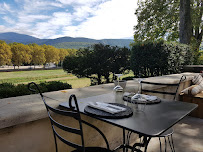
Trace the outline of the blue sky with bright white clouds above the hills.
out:
<instances>
[{"instance_id":1,"label":"blue sky with bright white clouds above the hills","mask_svg":"<svg viewBox=\"0 0 203 152\"><path fill-rule=\"evenodd\" d=\"M137 0L0 0L0 32L133 38Z\"/></svg>"}]
</instances>

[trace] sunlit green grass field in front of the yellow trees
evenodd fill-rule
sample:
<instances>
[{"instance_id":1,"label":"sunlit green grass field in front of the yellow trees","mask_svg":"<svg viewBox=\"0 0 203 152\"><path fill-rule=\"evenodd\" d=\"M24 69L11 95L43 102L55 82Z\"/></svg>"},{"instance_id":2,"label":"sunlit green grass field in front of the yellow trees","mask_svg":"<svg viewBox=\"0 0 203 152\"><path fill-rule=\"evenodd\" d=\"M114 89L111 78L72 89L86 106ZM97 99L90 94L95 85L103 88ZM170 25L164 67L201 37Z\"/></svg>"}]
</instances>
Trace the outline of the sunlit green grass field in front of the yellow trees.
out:
<instances>
[{"instance_id":1,"label":"sunlit green grass field in front of the yellow trees","mask_svg":"<svg viewBox=\"0 0 203 152\"><path fill-rule=\"evenodd\" d=\"M125 76L132 76L132 73ZM67 74L62 69L0 72L0 83L27 84L32 81L36 83L44 81L62 81L71 84L72 88L90 86L89 78L77 78L72 74Z\"/></svg>"}]
</instances>

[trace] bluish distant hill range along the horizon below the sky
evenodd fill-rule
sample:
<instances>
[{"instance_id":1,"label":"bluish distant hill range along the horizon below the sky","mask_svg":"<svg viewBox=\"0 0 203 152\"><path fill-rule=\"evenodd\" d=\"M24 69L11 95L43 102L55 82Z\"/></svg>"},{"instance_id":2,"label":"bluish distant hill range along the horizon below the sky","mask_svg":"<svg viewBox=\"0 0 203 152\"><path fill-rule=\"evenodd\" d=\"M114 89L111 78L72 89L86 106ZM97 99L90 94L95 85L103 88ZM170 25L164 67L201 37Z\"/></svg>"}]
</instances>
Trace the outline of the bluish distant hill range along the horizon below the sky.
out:
<instances>
[{"instance_id":1,"label":"bluish distant hill range along the horizon below the sky","mask_svg":"<svg viewBox=\"0 0 203 152\"><path fill-rule=\"evenodd\" d=\"M36 43L39 45L52 45L57 48L84 48L95 43L103 43L106 45L129 47L129 44L133 42L132 39L102 39L95 40L83 37L60 37L56 39L38 39L29 35L18 34L13 32L0 33L0 40L4 40L7 43L18 42L23 44Z\"/></svg>"}]
</instances>

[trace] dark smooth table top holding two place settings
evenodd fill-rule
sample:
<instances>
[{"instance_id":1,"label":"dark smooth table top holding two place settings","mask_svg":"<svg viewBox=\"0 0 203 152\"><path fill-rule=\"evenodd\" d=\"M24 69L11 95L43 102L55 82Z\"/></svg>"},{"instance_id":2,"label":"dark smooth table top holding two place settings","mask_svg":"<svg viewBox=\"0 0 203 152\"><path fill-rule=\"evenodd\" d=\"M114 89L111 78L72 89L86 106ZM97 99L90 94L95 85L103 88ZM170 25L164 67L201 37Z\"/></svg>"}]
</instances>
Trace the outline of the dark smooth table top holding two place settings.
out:
<instances>
[{"instance_id":1,"label":"dark smooth table top holding two place settings","mask_svg":"<svg viewBox=\"0 0 203 152\"><path fill-rule=\"evenodd\" d=\"M84 108L88 102L114 102L113 93L83 98L78 100L80 112L88 115L84 112ZM68 102L60 104L62 107L68 107ZM100 119L112 125L133 131L135 133L147 136L159 136L170 127L175 125L190 112L197 108L196 104L186 103L180 101L162 100L158 104L146 105L144 112L135 111L133 116L122 119L106 119L96 116L96 119Z\"/></svg>"}]
</instances>

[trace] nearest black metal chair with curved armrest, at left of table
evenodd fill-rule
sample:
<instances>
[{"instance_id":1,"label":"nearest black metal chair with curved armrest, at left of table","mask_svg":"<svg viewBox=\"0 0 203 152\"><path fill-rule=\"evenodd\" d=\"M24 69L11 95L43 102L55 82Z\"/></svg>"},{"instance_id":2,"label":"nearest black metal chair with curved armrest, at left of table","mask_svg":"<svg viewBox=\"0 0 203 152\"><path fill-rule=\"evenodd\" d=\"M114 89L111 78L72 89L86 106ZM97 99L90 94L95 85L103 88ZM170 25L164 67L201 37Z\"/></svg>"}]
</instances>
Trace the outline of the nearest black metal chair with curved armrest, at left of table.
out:
<instances>
[{"instance_id":1,"label":"nearest black metal chair with curved armrest, at left of table","mask_svg":"<svg viewBox=\"0 0 203 152\"><path fill-rule=\"evenodd\" d=\"M34 87L34 88L33 88ZM51 127L53 130L53 134L54 134L54 141L55 141L55 147L56 147L56 152L58 152L58 146L57 146L57 138L59 140L61 140L63 143L65 143L66 145L72 147L74 150L72 150L72 152L112 152L109 149L109 143L105 137L105 135L94 125L84 121L81 119L80 116L80 112L79 112L79 107L78 107L78 103L77 103L77 99L75 95L71 95L69 98L69 109L67 110L61 110L61 109L56 109L53 108L51 106L49 106L46 103L45 98L48 98L46 96L44 96L42 94L42 92L40 91L38 85L34 82L31 82L28 84L28 88L30 91L32 92L38 92L44 102L44 105L46 107L50 122L51 122ZM74 101L74 105L72 105L72 101ZM56 119L54 119L53 115L58 114L60 116L67 116L67 117L71 117L74 118L74 120L76 120L79 123L79 128L73 128L64 124L59 123ZM96 129L96 131L98 131L100 133L100 135L104 138L105 143L107 148L102 148L102 147L85 147L85 141L84 141L84 136L83 136L83 123ZM76 134L79 135L81 138L81 144L77 144L74 143L72 141L68 141L67 139L65 139L64 137L62 137L62 135L60 135L60 133L58 132L58 130L63 130L65 132L68 133L72 133L72 134Z\"/></svg>"}]
</instances>

